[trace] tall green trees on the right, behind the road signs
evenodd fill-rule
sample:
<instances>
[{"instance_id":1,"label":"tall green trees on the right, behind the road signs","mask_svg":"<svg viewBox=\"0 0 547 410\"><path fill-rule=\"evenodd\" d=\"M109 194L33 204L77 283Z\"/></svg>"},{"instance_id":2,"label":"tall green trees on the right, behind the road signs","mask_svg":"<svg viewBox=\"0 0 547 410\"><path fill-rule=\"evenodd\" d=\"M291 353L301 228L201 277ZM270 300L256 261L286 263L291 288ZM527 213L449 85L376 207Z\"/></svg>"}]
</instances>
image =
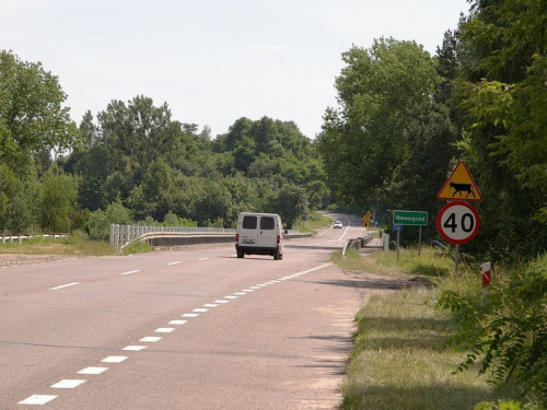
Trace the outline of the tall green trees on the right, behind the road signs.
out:
<instances>
[{"instance_id":1,"label":"tall green trees on the right, behind the road signs","mask_svg":"<svg viewBox=\"0 0 547 410\"><path fill-rule=\"evenodd\" d=\"M545 7L475 0L431 57L415 42L376 39L342 55L338 107L318 136L336 197L391 222L395 209L428 211L464 160L484 200L469 254L493 260L547 248ZM403 235L416 241L417 230ZM426 237L437 237L434 223Z\"/></svg>"}]
</instances>

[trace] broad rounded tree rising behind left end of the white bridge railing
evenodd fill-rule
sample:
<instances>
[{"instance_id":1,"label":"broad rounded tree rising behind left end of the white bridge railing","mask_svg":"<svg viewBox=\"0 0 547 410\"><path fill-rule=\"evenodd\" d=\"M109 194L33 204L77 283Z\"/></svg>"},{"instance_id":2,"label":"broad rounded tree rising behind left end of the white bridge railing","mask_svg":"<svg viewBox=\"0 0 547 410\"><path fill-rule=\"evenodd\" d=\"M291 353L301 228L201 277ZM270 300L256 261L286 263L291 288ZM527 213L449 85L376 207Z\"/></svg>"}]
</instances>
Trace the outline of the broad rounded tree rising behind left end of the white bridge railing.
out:
<instances>
[{"instance_id":1,"label":"broad rounded tree rising behind left end of the white bridge railing","mask_svg":"<svg viewBox=\"0 0 547 410\"><path fill-rule=\"evenodd\" d=\"M110 102L98 113L96 125L86 113L80 124L82 143L66 162L67 169L82 176L81 207L106 209L118 196L123 201L131 197L127 203L140 203L136 215L144 218L153 212L154 219L162 219L167 211L163 198L168 196L170 184L159 184L156 177L176 172L210 177L218 174L211 142L197 131L196 125L173 120L167 104L156 107L144 96L127 104ZM153 206L143 203L141 194Z\"/></svg>"}]
</instances>

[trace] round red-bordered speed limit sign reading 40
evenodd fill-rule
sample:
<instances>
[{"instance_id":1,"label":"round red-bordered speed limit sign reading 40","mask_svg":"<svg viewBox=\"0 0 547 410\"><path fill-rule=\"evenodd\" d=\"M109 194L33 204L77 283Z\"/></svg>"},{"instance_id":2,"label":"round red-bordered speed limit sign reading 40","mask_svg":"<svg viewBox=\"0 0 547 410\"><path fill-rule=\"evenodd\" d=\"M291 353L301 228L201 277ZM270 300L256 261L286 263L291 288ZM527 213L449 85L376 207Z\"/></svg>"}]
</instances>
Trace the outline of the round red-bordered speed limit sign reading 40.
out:
<instances>
[{"instance_id":1,"label":"round red-bordered speed limit sign reading 40","mask_svg":"<svg viewBox=\"0 0 547 410\"><path fill-rule=\"evenodd\" d=\"M466 244L478 234L480 218L477 210L467 202L449 202L437 216L437 229L450 243Z\"/></svg>"}]
</instances>

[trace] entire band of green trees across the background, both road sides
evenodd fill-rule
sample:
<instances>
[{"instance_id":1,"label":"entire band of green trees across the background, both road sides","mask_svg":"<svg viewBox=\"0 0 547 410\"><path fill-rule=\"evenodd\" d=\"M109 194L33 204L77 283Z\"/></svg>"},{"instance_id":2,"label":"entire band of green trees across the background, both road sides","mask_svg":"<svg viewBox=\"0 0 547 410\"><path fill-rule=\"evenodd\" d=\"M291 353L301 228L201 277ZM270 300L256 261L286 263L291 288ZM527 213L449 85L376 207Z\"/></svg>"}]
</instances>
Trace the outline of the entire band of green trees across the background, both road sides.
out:
<instances>
[{"instance_id":1,"label":"entire band of green trees across the background, both road sides","mask_svg":"<svg viewBox=\"0 0 547 410\"><path fill-rule=\"evenodd\" d=\"M375 210L385 224L395 209L433 220L437 192L464 160L484 198L465 250L537 256L547 248L546 4L470 3L434 56L394 38L345 51L338 107L326 107L313 140L267 116L212 138L143 95L77 125L60 80L2 50L0 232L233 227L241 211L277 212L291 227L329 206ZM424 237L438 238L433 223Z\"/></svg>"}]
</instances>

